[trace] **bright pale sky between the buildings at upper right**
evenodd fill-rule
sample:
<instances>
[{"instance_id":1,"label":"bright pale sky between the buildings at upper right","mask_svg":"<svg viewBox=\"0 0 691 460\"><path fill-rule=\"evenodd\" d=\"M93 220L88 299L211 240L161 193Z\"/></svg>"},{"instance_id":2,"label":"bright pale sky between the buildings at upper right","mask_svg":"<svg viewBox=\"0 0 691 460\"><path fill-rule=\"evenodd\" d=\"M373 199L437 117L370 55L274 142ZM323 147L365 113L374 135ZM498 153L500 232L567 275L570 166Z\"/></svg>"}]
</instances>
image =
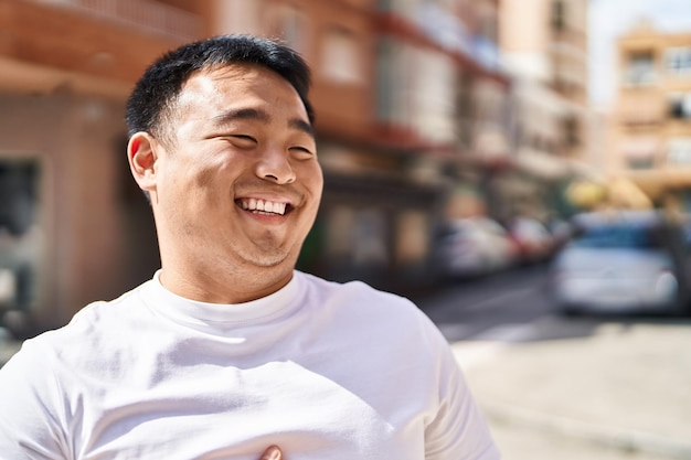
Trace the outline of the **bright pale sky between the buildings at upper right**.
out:
<instances>
[{"instance_id":1,"label":"bright pale sky between the buildings at upper right","mask_svg":"<svg viewBox=\"0 0 691 460\"><path fill-rule=\"evenodd\" d=\"M608 106L616 96L615 40L641 17L660 31L691 31L691 0L589 0L591 101Z\"/></svg>"}]
</instances>

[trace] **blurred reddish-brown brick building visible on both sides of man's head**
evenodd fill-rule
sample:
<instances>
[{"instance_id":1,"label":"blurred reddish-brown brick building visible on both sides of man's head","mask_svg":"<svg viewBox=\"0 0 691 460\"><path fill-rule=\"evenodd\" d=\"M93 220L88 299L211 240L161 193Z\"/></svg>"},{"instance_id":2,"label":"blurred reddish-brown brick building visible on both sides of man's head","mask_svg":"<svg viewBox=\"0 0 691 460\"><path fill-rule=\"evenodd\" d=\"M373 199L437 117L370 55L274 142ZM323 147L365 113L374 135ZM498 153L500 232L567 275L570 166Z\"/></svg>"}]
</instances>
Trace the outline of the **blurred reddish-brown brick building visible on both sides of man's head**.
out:
<instances>
[{"instance_id":1,"label":"blurred reddish-brown brick building visible on both sides of man's head","mask_svg":"<svg viewBox=\"0 0 691 460\"><path fill-rule=\"evenodd\" d=\"M510 81L498 0L0 0L0 306L59 325L158 267L124 105L185 41L281 38L313 69L322 210L300 268L428 282L437 223L499 212Z\"/></svg>"}]
</instances>

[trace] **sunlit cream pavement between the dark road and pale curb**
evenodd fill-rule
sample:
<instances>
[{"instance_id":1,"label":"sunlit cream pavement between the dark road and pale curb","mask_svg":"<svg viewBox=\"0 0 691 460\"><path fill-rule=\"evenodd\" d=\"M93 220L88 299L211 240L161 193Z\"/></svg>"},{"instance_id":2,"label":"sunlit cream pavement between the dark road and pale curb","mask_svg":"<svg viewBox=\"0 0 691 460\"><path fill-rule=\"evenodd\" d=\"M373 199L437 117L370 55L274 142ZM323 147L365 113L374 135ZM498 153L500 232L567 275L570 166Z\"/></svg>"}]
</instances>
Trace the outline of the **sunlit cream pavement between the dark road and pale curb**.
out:
<instances>
[{"instance_id":1,"label":"sunlit cream pavement between the dark road and pale curb","mask_svg":"<svg viewBox=\"0 0 691 460\"><path fill-rule=\"evenodd\" d=\"M691 459L688 322L613 322L583 338L453 347L490 425Z\"/></svg>"}]
</instances>

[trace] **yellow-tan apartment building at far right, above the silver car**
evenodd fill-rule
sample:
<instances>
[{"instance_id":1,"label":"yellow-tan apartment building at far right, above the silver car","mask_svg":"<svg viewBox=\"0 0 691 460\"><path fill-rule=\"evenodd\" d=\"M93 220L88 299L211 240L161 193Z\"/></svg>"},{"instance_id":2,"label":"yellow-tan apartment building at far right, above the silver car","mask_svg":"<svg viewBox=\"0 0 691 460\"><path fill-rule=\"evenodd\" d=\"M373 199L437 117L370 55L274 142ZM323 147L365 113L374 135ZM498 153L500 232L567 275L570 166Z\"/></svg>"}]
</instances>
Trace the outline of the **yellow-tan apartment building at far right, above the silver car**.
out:
<instances>
[{"instance_id":1,"label":"yellow-tan apartment building at far right, above the silver car","mask_svg":"<svg viewBox=\"0 0 691 460\"><path fill-rule=\"evenodd\" d=\"M641 21L617 41L608 170L661 207L691 212L691 31Z\"/></svg>"}]
</instances>

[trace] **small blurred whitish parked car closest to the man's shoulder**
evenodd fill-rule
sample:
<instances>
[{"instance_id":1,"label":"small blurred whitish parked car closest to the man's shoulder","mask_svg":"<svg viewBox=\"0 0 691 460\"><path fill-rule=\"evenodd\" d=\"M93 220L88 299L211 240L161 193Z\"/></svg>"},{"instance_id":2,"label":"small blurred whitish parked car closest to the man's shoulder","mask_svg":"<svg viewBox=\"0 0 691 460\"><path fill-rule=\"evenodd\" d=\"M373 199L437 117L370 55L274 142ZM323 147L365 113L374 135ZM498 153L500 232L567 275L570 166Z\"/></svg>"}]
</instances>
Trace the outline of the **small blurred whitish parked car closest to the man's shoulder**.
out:
<instances>
[{"instance_id":1,"label":"small blurred whitish parked car closest to the man's shoulder","mask_svg":"<svg viewBox=\"0 0 691 460\"><path fill-rule=\"evenodd\" d=\"M437 274L445 278L490 275L510 267L513 246L504 227L489 217L449 222L434 247Z\"/></svg>"}]
</instances>

